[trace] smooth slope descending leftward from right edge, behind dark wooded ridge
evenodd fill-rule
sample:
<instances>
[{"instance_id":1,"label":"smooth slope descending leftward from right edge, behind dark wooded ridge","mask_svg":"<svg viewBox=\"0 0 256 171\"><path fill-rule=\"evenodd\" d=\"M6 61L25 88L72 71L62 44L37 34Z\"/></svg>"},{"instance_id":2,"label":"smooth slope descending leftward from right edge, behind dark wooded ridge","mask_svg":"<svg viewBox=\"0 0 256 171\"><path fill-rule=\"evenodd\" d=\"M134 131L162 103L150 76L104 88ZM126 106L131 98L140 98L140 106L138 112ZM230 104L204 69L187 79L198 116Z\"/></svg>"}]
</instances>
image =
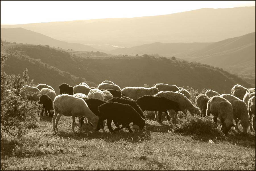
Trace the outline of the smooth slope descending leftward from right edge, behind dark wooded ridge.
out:
<instances>
[{"instance_id":1,"label":"smooth slope descending leftward from right edge, behind dark wooded ridge","mask_svg":"<svg viewBox=\"0 0 256 171\"><path fill-rule=\"evenodd\" d=\"M255 76L255 32L215 42L177 57Z\"/></svg>"}]
</instances>

